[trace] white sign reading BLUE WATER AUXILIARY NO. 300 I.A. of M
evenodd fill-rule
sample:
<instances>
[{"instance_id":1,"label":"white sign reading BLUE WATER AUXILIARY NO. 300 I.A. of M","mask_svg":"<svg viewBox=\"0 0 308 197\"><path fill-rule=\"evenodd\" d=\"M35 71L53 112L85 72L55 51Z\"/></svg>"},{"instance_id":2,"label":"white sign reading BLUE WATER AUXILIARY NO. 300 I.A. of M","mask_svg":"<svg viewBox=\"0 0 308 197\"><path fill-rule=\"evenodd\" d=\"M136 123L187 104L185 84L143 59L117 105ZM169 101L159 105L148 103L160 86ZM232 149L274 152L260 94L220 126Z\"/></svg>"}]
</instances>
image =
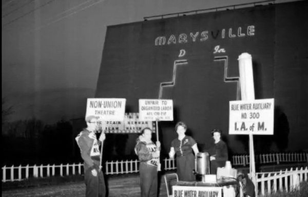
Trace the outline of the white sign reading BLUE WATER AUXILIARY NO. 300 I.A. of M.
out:
<instances>
[{"instance_id":1,"label":"white sign reading BLUE WATER AUXILIARY NO. 300 I.A. of M","mask_svg":"<svg viewBox=\"0 0 308 197\"><path fill-rule=\"evenodd\" d=\"M229 134L274 134L274 99L229 102Z\"/></svg>"}]
</instances>

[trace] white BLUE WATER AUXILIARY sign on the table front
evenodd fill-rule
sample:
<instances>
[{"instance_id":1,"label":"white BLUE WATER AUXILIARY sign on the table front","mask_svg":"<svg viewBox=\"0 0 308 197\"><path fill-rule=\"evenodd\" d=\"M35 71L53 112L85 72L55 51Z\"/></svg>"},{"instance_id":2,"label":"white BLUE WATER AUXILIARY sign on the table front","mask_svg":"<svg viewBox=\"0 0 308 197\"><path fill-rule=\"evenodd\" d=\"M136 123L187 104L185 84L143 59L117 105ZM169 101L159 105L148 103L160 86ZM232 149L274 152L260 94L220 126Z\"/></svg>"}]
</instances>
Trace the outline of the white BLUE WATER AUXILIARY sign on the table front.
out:
<instances>
[{"instance_id":1,"label":"white BLUE WATER AUXILIARY sign on the table front","mask_svg":"<svg viewBox=\"0 0 308 197\"><path fill-rule=\"evenodd\" d=\"M173 197L221 197L220 187L172 186Z\"/></svg>"}]
</instances>

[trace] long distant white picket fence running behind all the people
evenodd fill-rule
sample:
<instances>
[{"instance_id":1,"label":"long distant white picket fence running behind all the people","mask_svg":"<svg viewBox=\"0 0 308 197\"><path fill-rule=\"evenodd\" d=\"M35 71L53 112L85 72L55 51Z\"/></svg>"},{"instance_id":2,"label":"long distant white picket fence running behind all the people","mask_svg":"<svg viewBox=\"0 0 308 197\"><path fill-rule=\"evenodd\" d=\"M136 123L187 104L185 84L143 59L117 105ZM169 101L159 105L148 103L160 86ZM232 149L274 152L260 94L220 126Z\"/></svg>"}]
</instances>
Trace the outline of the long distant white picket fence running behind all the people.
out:
<instances>
[{"instance_id":1,"label":"long distant white picket fence running behind all the people","mask_svg":"<svg viewBox=\"0 0 308 197\"><path fill-rule=\"evenodd\" d=\"M308 153L276 153L259 155L261 164L280 162L307 162ZM276 159L275 159L276 158ZM233 156L233 166L249 164L248 155ZM106 174L136 173L139 171L138 160L111 161L105 163ZM176 169L174 159L164 159L163 170ZM4 166L2 167L2 182L22 181L29 178L44 178L49 176L64 176L83 174L83 164L34 165L34 166Z\"/></svg>"}]
</instances>

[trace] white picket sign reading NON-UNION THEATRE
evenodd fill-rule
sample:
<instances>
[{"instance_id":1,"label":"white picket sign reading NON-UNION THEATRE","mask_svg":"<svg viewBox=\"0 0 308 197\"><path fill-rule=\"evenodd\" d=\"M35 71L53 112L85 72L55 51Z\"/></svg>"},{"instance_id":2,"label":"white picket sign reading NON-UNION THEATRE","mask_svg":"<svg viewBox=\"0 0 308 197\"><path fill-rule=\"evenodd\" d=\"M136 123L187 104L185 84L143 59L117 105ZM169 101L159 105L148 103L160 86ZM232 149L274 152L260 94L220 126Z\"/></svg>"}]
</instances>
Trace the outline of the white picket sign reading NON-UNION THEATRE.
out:
<instances>
[{"instance_id":1,"label":"white picket sign reading NON-UNION THEATRE","mask_svg":"<svg viewBox=\"0 0 308 197\"><path fill-rule=\"evenodd\" d=\"M86 117L99 116L102 121L123 121L126 99L87 99Z\"/></svg>"}]
</instances>

